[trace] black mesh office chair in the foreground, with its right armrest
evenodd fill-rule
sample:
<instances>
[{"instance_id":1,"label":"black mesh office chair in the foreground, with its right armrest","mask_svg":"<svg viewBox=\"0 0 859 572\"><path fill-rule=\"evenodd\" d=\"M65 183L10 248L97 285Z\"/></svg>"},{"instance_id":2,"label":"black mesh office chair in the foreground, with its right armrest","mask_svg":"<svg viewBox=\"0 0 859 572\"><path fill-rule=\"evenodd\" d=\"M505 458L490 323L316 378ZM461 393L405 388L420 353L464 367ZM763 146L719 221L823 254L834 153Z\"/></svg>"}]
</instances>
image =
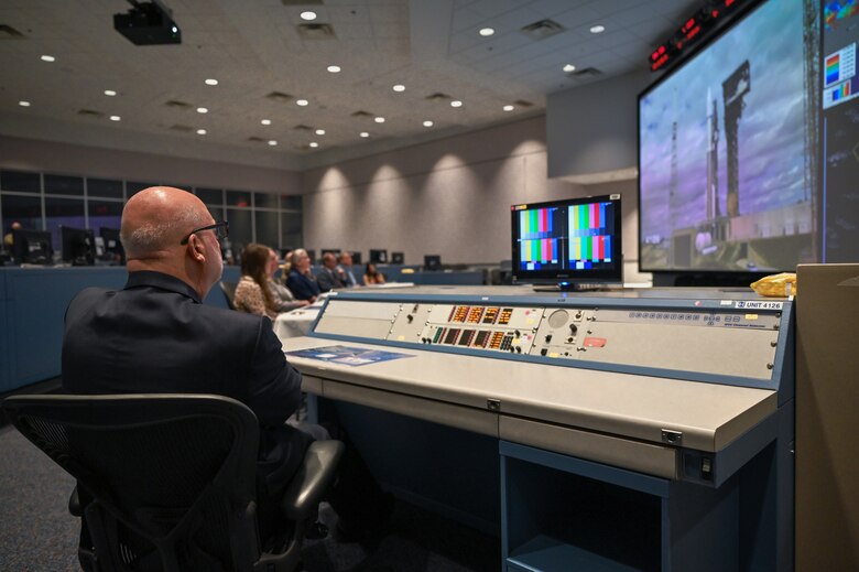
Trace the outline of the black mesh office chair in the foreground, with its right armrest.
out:
<instances>
[{"instance_id":1,"label":"black mesh office chair in the foreground, with its right armrest","mask_svg":"<svg viewBox=\"0 0 859 572\"><path fill-rule=\"evenodd\" d=\"M285 530L260 542L259 425L221 396L13 396L10 421L77 479L87 571L292 571L335 478L339 441L317 441L287 486ZM263 551L263 548L265 551Z\"/></svg>"}]
</instances>

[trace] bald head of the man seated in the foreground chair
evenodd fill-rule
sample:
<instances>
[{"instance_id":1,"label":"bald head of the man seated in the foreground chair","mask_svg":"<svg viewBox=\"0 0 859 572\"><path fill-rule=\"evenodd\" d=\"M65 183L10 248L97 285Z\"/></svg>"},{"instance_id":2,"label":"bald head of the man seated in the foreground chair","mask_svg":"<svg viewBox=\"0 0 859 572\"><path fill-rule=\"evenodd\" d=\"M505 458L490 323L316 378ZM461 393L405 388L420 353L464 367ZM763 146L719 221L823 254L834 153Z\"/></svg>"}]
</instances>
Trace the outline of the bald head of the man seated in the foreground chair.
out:
<instances>
[{"instance_id":1,"label":"bald head of the man seated in the foreground chair","mask_svg":"<svg viewBox=\"0 0 859 572\"><path fill-rule=\"evenodd\" d=\"M180 278L205 298L222 271L220 247L206 205L193 194L171 186L152 186L129 198L122 211L120 239L129 272L153 270Z\"/></svg>"}]
</instances>

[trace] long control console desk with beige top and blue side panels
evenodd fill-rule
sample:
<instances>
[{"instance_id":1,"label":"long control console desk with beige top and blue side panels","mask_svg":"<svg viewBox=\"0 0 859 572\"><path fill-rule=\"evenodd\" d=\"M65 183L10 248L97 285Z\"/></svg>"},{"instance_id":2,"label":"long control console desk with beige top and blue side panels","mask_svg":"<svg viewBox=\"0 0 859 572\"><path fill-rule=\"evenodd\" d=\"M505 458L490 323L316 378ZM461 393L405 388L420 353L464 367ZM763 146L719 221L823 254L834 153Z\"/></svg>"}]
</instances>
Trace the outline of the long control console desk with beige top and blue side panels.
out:
<instances>
[{"instance_id":1,"label":"long control console desk with beige top and blue side panels","mask_svg":"<svg viewBox=\"0 0 859 572\"><path fill-rule=\"evenodd\" d=\"M380 479L494 527L504 570L791 570L792 312L699 289L344 292L283 344Z\"/></svg>"}]
</instances>

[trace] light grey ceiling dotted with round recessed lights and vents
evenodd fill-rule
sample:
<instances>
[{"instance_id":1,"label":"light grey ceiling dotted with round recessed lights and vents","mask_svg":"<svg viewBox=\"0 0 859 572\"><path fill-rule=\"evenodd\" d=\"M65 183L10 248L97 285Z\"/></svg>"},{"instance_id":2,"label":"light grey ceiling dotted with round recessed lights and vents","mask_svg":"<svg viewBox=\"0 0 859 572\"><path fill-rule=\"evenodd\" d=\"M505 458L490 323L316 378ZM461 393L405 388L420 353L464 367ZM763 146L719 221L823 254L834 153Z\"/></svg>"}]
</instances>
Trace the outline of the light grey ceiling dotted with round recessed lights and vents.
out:
<instances>
[{"instance_id":1,"label":"light grey ceiling dotted with round recessed lights and vents","mask_svg":"<svg viewBox=\"0 0 859 572\"><path fill-rule=\"evenodd\" d=\"M112 25L123 0L0 0L0 25L21 33L0 32L0 133L303 169L539 114L548 93L646 69L702 0L165 3L182 45L126 40ZM334 36L300 33L307 9ZM521 31L545 19L563 30L543 40ZM595 24L606 31L591 33ZM485 26L494 35L481 36ZM598 73L566 74L565 64Z\"/></svg>"}]
</instances>

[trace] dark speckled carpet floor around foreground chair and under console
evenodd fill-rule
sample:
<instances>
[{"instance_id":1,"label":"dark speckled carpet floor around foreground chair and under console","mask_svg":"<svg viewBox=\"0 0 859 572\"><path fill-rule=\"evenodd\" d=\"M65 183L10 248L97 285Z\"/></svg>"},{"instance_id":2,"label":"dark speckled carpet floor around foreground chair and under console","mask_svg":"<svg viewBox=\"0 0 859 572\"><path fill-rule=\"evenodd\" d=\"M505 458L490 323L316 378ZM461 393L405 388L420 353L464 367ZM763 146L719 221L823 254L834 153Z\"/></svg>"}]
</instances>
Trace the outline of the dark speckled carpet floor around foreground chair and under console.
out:
<instances>
[{"instance_id":1,"label":"dark speckled carpet floor around foreground chair and under console","mask_svg":"<svg viewBox=\"0 0 859 572\"><path fill-rule=\"evenodd\" d=\"M74 481L10 427L0 428L0 570L79 570L78 521L67 510ZM336 514L323 505L331 530ZM389 532L368 550L334 535L305 542L307 572L499 570L499 539L398 501Z\"/></svg>"}]
</instances>

